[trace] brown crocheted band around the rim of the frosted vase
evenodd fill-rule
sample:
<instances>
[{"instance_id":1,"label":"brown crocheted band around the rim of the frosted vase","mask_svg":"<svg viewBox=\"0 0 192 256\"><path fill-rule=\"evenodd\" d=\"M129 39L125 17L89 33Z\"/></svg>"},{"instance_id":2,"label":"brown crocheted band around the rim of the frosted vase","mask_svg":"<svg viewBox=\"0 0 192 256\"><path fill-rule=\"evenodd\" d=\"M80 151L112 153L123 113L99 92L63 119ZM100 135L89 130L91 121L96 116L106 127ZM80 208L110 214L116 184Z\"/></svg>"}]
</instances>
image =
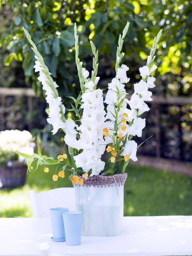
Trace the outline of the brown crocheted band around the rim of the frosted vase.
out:
<instances>
[{"instance_id":1,"label":"brown crocheted band around the rim of the frosted vase","mask_svg":"<svg viewBox=\"0 0 192 256\"><path fill-rule=\"evenodd\" d=\"M82 177L81 177L82 178ZM125 183L127 178L127 174L115 174L112 176L105 176L105 175L97 175L88 177L87 180L83 179L83 185L78 186L121 186ZM77 184L73 183L73 186L77 186Z\"/></svg>"}]
</instances>

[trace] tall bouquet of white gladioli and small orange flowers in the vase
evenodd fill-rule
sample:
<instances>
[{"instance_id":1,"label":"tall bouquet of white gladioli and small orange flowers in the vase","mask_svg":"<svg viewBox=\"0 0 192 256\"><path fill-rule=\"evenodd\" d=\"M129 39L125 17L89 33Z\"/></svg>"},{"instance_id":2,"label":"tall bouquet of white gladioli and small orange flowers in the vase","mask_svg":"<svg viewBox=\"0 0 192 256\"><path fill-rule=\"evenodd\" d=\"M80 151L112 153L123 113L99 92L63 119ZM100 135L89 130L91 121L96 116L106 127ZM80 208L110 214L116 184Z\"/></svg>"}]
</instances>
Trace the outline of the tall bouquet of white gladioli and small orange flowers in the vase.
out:
<instances>
[{"instance_id":1,"label":"tall bouquet of white gladioli and small orange flowers in the vase","mask_svg":"<svg viewBox=\"0 0 192 256\"><path fill-rule=\"evenodd\" d=\"M47 121L53 126L53 134L59 129L64 131L64 141L68 145L68 152L63 150L62 154L55 159L42 155L38 142L38 154L32 156L20 154L28 158L28 170L36 159L38 160L37 168L39 164L63 164L58 174L53 175L53 180L58 180L58 177L64 178L64 171L69 170L72 182L83 185L88 176L124 173L130 159L137 160L136 152L141 144L137 145L132 138L141 137L145 127L145 119L141 118L141 115L150 109L146 102L152 100L152 92L149 89L155 86L155 78L150 75L157 68L154 65L155 52L162 30L154 38L146 66L139 69L142 79L134 84L134 94L128 100L125 84L130 80L126 75L129 68L120 63L124 57L122 47L129 24L127 22L118 39L116 77L108 84L105 100L103 91L97 87L100 79L97 76L98 50L90 41L94 57L93 70L89 76L88 70L78 58L78 34L76 24L74 25L76 65L81 88L76 99L69 97L73 102L70 102L72 108L69 111L75 113L75 120L65 118L66 108L58 96L56 89L58 85L53 81L30 34L23 28L35 53L35 72L39 72L38 80L42 83L46 101L49 104ZM104 157L104 152L107 158ZM44 172L48 171L46 167Z\"/></svg>"}]
</instances>

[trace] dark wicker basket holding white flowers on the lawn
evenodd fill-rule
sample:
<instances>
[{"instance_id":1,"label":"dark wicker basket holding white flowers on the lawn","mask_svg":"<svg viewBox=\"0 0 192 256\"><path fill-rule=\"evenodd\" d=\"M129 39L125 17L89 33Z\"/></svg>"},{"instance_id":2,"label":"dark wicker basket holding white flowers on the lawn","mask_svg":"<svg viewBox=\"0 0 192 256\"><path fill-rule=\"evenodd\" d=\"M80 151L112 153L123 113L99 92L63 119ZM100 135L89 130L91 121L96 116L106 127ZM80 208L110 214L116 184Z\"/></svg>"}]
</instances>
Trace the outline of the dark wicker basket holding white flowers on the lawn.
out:
<instances>
[{"instance_id":1,"label":"dark wicker basket holding white flowers on the lawn","mask_svg":"<svg viewBox=\"0 0 192 256\"><path fill-rule=\"evenodd\" d=\"M26 165L18 161L9 161L4 167L0 166L0 186L16 188L23 186L26 180Z\"/></svg>"}]
</instances>

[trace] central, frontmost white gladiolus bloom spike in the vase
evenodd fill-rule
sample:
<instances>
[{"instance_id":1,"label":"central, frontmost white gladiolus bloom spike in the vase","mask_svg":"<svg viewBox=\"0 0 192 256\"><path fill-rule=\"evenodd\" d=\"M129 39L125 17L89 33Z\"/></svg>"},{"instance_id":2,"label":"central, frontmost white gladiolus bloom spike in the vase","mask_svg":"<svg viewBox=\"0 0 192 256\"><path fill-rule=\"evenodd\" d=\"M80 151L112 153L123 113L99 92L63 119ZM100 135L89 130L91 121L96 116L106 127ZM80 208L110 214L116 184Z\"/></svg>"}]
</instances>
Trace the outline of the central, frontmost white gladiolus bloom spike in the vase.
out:
<instances>
[{"instance_id":1,"label":"central, frontmost white gladiolus bloom spike in the vase","mask_svg":"<svg viewBox=\"0 0 192 256\"><path fill-rule=\"evenodd\" d=\"M81 106L83 108L82 124L78 128L81 134L76 144L78 148L83 149L83 152L74 156L76 166L81 167L84 172L92 169L92 175L99 174L104 168L104 162L100 160L105 151L103 128L106 112L102 94L102 90L97 89L82 95L82 102L84 102Z\"/></svg>"}]
</instances>

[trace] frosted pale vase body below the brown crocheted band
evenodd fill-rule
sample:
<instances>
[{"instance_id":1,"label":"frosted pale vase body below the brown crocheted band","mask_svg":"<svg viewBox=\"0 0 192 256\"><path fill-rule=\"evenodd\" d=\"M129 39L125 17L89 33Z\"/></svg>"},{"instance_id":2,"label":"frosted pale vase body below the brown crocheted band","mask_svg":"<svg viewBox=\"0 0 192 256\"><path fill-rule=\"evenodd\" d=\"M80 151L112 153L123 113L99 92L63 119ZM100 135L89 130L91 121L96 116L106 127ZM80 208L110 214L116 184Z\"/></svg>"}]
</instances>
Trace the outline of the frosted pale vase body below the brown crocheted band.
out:
<instances>
[{"instance_id":1,"label":"frosted pale vase body below the brown crocheted band","mask_svg":"<svg viewBox=\"0 0 192 256\"><path fill-rule=\"evenodd\" d=\"M82 235L118 236L122 231L124 182L76 185L74 190L76 211L82 212Z\"/></svg>"}]
</instances>

